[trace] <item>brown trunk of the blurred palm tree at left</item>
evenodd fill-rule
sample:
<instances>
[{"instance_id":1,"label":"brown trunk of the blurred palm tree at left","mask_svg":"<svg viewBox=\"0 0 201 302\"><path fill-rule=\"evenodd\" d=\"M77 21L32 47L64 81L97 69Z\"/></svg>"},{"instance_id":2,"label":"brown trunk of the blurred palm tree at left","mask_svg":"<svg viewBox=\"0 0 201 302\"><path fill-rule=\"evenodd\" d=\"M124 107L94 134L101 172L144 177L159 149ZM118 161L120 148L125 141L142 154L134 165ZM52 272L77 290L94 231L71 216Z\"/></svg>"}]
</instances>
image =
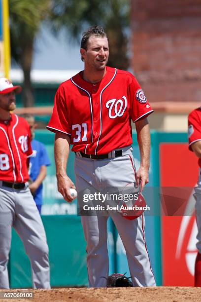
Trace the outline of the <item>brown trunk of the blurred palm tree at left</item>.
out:
<instances>
[{"instance_id":1,"label":"brown trunk of the blurred palm tree at left","mask_svg":"<svg viewBox=\"0 0 201 302\"><path fill-rule=\"evenodd\" d=\"M29 45L25 45L23 54L20 58L20 64L24 73L24 83L22 91L22 101L24 107L34 107L33 87L31 82L33 58L33 40Z\"/></svg>"}]
</instances>

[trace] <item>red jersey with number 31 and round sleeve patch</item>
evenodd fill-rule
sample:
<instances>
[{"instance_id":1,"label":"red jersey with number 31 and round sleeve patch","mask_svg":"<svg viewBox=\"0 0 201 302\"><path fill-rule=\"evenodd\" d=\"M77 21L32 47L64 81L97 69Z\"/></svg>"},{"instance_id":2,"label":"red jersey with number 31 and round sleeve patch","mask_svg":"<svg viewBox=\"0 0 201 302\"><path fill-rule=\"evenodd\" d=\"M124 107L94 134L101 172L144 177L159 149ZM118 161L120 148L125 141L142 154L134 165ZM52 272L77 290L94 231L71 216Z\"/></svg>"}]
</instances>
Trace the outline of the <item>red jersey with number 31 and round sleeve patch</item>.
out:
<instances>
[{"instance_id":1,"label":"red jersey with number 31 and round sleeve patch","mask_svg":"<svg viewBox=\"0 0 201 302\"><path fill-rule=\"evenodd\" d=\"M104 154L130 146L131 120L153 112L136 78L110 67L97 84L82 75L60 85L47 128L70 135L72 151Z\"/></svg>"}]
</instances>

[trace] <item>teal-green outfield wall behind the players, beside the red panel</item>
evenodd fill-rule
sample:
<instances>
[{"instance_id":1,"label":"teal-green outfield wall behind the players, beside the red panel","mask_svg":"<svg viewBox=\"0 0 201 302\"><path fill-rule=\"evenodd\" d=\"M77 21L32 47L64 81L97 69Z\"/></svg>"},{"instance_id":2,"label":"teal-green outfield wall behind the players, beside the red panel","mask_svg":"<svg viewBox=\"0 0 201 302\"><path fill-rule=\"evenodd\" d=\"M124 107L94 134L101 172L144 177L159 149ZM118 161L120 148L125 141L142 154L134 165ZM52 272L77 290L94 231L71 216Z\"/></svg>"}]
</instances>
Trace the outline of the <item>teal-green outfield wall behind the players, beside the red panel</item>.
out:
<instances>
[{"instance_id":1,"label":"teal-green outfield wall behind the players, beside the red panel","mask_svg":"<svg viewBox=\"0 0 201 302\"><path fill-rule=\"evenodd\" d=\"M54 134L45 130L36 131L35 138L45 144L52 165L47 168L44 181L42 220L47 234L51 269L51 286L87 286L86 242L84 239L80 217L77 216L77 203L67 203L57 191L54 164ZM133 133L134 159L136 168L140 164L136 133ZM162 142L187 142L186 133L164 133L151 131L150 181L148 186L160 186L159 146ZM68 175L74 177L74 154L68 160ZM160 213L159 195L153 190L148 198L155 200L154 205ZM161 249L161 217L146 217L146 242L157 285L162 285L162 249ZM110 273L128 272L125 249L111 220L108 221L108 249L110 256ZM31 283L30 261L24 252L21 239L13 230L9 261L11 288L29 288Z\"/></svg>"}]
</instances>

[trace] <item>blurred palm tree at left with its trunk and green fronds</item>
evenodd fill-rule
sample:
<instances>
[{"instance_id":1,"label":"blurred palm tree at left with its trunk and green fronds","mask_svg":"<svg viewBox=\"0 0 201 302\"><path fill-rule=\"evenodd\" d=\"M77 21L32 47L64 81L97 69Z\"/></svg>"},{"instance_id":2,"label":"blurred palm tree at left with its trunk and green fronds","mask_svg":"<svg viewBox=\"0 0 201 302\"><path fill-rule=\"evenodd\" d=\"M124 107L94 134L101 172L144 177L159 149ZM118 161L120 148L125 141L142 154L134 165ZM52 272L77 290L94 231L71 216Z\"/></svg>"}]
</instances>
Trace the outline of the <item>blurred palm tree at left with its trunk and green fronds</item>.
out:
<instances>
[{"instance_id":1,"label":"blurred palm tree at left with its trunk and green fronds","mask_svg":"<svg viewBox=\"0 0 201 302\"><path fill-rule=\"evenodd\" d=\"M34 105L31 83L33 43L49 14L50 0L9 0L11 57L24 73L23 103Z\"/></svg>"}]
</instances>

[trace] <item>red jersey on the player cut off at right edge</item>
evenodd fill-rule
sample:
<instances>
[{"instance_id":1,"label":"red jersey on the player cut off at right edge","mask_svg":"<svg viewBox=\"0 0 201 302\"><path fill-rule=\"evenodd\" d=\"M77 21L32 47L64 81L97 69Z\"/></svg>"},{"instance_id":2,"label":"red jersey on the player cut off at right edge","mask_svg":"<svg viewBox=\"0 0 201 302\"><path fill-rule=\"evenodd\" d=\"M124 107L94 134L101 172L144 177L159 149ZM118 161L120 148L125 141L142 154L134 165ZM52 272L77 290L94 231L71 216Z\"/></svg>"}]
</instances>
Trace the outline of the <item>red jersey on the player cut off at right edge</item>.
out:
<instances>
[{"instance_id":1,"label":"red jersey on the player cut off at right edge","mask_svg":"<svg viewBox=\"0 0 201 302\"><path fill-rule=\"evenodd\" d=\"M188 117L188 139L189 150L193 151L191 145L201 141L201 107L193 110ZM201 158L199 158L199 166L201 167Z\"/></svg>"}]
</instances>

